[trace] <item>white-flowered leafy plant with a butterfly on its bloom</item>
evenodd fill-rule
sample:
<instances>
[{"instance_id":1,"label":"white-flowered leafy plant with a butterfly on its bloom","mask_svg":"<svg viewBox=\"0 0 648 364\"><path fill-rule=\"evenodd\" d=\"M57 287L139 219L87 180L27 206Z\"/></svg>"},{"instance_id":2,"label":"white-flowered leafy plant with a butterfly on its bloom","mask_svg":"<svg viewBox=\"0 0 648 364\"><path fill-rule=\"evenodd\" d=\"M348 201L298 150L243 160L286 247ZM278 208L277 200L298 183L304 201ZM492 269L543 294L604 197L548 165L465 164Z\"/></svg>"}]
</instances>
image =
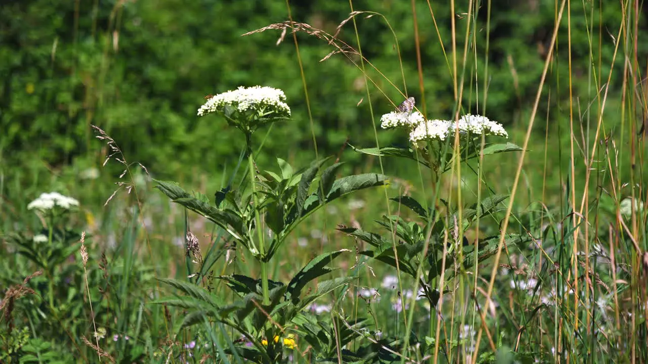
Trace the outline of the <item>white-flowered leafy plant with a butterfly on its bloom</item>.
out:
<instances>
[{"instance_id":1,"label":"white-flowered leafy plant with a butterfly on its bloom","mask_svg":"<svg viewBox=\"0 0 648 364\"><path fill-rule=\"evenodd\" d=\"M485 136L508 137L502 124L481 115L463 115L457 120L426 120L413 109L413 98L409 108L399 107L380 118L385 130L404 130L408 133L410 148L354 148L362 154L384 157L400 157L416 161L429 168L432 174L432 207L411 196L392 198L399 206L407 207L415 218L405 220L400 214L383 216L378 224L384 231L371 232L359 227L341 225L338 230L362 240L368 249L360 251L379 262L394 267L416 286L414 295L399 295L397 307L407 308L422 297L428 307L436 312L443 293L450 290L454 277L476 267L498 251L500 233L476 238L469 242L465 232L480 219L494 217L500 203L507 195L491 194L470 207L454 208L448 201L439 198L437 179L441 174L456 166L480 156L500 152L521 150L513 143L489 143ZM478 159L481 163L481 159ZM443 205L443 206L441 206ZM505 234L505 244L524 244L529 238L521 234ZM400 281L400 278L399 278ZM400 284L400 282L399 282ZM420 289L419 289L420 287ZM413 311L412 311L413 312ZM411 324L411 315L408 325ZM410 330L409 326L406 331ZM454 346L453 341L444 345ZM430 341L429 345L439 345ZM434 350L427 348L426 350Z\"/></svg>"}]
</instances>

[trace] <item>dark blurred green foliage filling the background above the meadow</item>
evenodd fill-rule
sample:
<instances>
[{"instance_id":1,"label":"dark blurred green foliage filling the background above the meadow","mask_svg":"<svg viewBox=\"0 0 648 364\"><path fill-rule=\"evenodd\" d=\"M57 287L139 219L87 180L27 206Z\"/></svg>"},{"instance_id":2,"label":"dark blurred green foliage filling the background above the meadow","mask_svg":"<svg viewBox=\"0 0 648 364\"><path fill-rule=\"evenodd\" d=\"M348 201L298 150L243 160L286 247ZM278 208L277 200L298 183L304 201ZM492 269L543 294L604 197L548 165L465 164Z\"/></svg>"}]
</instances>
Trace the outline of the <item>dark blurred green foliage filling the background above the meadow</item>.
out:
<instances>
[{"instance_id":1,"label":"dark blurred green foliage filling the background above the meadow","mask_svg":"<svg viewBox=\"0 0 648 364\"><path fill-rule=\"evenodd\" d=\"M588 100L579 104L580 113L597 89L588 83L588 32L610 34L608 41L592 41L597 52L592 58L601 62L603 72L597 76L603 83L614 56L612 40L622 19L618 1L601 3L600 13L583 13L578 6L572 10L573 92ZM465 78L463 111L485 113L505 125L516 120L526 122L550 45L555 4L492 1L488 31L484 2L478 27L469 37L470 46L477 45L476 65L471 53L469 65L462 71L467 4L459 1L454 9L457 67L459 78ZM349 3L342 0L292 1L290 5L292 19L329 34L334 34L351 12ZM395 104L402 100L399 90L405 93L389 27L399 41L407 94L417 97L419 108L426 104L428 117L451 117L455 101L450 3L432 2L432 8L424 1L417 4L424 98L418 86L410 2L356 0L353 6L353 10L385 16L356 17L362 52L384 74L380 76L365 64L376 118L393 107L383 92ZM279 154L285 150L285 141L290 141L295 155L282 157L310 160L313 152L297 154L314 148L292 35L288 32L279 45L281 30L241 36L288 19L286 3L279 0L7 3L0 8L0 159L7 166L41 160L58 167L80 158L100 163L102 158L93 159L100 144L93 142L89 128L95 124L118 142L131 161L143 163L158 175L177 174L187 165L205 172L218 171L236 162L244 142L226 128L225 122L215 117L198 118L196 110L207 94L260 84L283 89L294 117L272 130L264 146L268 155ZM643 21L640 32L641 28L645 28ZM566 26L561 32L567 32ZM564 35L562 39L567 39ZM358 49L352 22L341 29L338 39ZM365 78L356 67L360 59L336 54L319 62L334 47L304 32L297 34L297 41L319 153L338 153L347 138L355 145L375 145ZM638 46L640 54L645 54L647 45ZM566 52L567 45L559 43L561 60L566 59ZM618 56L615 64L620 67L622 62L623 57ZM544 90L551 90L552 103L559 107L547 114L545 106L540 106L538 115L549 115L551 122L559 122L568 117L568 64L557 62L551 72L557 76L548 78ZM474 85L476 78L478 85ZM615 89L621 82L612 79ZM610 102L608 110L612 115L608 122L614 122L616 104ZM264 135L257 137L260 141ZM380 133L378 139L384 145L398 143L397 138L402 136Z\"/></svg>"}]
</instances>

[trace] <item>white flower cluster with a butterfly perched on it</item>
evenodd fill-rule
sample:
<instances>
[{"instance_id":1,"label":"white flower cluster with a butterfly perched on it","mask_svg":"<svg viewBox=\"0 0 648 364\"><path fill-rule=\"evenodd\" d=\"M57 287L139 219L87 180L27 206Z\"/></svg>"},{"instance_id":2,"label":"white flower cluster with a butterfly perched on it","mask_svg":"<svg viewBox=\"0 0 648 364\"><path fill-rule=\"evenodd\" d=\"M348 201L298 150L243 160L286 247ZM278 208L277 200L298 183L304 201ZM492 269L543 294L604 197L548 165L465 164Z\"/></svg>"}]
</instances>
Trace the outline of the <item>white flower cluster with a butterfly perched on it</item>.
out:
<instances>
[{"instance_id":1,"label":"white flower cluster with a butterfly perched on it","mask_svg":"<svg viewBox=\"0 0 648 364\"><path fill-rule=\"evenodd\" d=\"M452 120L425 120L418 111L408 113L406 111L392 111L380 118L380 126L383 129L407 128L410 130L410 141L416 143L424 140L445 141L447 137L454 136L458 130L459 134L492 134L501 137L509 137L504 127L499 122L489 120L481 115L463 115L458 121Z\"/></svg>"}]
</instances>

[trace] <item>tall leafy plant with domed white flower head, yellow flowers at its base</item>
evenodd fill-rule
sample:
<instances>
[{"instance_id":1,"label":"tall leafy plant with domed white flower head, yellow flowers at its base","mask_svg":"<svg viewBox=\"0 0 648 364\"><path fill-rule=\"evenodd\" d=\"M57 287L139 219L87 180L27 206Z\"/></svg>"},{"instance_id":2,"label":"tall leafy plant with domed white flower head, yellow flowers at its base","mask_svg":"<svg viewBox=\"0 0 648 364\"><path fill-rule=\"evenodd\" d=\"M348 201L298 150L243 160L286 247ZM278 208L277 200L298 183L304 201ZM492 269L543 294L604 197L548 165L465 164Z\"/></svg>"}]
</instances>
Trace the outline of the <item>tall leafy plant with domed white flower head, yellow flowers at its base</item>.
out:
<instances>
[{"instance_id":1,"label":"tall leafy plant with domed white flower head, yellow flowers at its base","mask_svg":"<svg viewBox=\"0 0 648 364\"><path fill-rule=\"evenodd\" d=\"M286 283L270 280L266 264L295 227L305 222L316 210L341 196L386 183L384 176L374 173L337 178L341 163L326 166L328 158L314 161L301 170L277 158L279 170L257 170L251 134L261 126L287 119L290 108L284 101L283 91L272 87L239 87L235 91L210 97L198 109L199 116L214 113L224 117L230 126L246 137L244 152L248 168L244 171L238 190L230 183L216 192L216 199L211 203L202 194L189 194L176 183L157 181L157 188L168 198L215 223L228 236L229 244L244 247L259 264L261 276L260 279L243 275L218 277L237 296L233 304L226 304L222 295L196 290L196 284L204 282L203 279L211 274L215 259L203 259L198 239L188 232L187 256L193 256L192 262L198 264L198 269L187 277L192 282L162 280L185 295L181 300L165 298L157 303L190 310L181 328L202 323L204 317L209 317L237 330L244 336L245 343L226 352L236 350L238 355L258 363L284 362L284 352L298 345L293 336L294 330L299 330L301 337L305 337L309 343L317 341L319 331L316 328L310 331L304 331L304 327L300 328L299 325L290 331L284 328L295 326L297 322L313 321L312 313L308 313L307 308L319 297L349 284L355 278L323 280L316 290L303 292L309 282L332 271L327 264L347 253L348 249L312 258ZM268 340L269 337L273 340ZM344 340L348 342L354 337L355 334L350 334ZM326 352L332 352L337 344L339 341L321 343L321 346L327 348Z\"/></svg>"}]
</instances>

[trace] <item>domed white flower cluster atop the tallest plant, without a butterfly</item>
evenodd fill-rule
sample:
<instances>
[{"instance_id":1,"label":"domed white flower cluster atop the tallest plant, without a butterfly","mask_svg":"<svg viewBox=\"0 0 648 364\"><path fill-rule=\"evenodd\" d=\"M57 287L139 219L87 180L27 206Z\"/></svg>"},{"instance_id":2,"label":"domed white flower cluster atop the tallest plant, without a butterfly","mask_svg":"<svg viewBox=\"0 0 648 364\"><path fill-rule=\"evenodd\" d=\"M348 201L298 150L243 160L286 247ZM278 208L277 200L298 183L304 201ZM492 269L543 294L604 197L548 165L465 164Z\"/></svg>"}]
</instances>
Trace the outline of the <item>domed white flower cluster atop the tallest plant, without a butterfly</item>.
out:
<instances>
[{"instance_id":1,"label":"domed white flower cluster atop the tallest plant, without a butterfly","mask_svg":"<svg viewBox=\"0 0 648 364\"><path fill-rule=\"evenodd\" d=\"M280 89L272 87L243 87L240 86L234 91L220 93L209 98L203 106L198 109L198 116L209 113L223 111L226 106L232 106L238 111L248 110L265 112L274 111L275 113L289 117L290 107L284 102L286 95Z\"/></svg>"}]
</instances>

